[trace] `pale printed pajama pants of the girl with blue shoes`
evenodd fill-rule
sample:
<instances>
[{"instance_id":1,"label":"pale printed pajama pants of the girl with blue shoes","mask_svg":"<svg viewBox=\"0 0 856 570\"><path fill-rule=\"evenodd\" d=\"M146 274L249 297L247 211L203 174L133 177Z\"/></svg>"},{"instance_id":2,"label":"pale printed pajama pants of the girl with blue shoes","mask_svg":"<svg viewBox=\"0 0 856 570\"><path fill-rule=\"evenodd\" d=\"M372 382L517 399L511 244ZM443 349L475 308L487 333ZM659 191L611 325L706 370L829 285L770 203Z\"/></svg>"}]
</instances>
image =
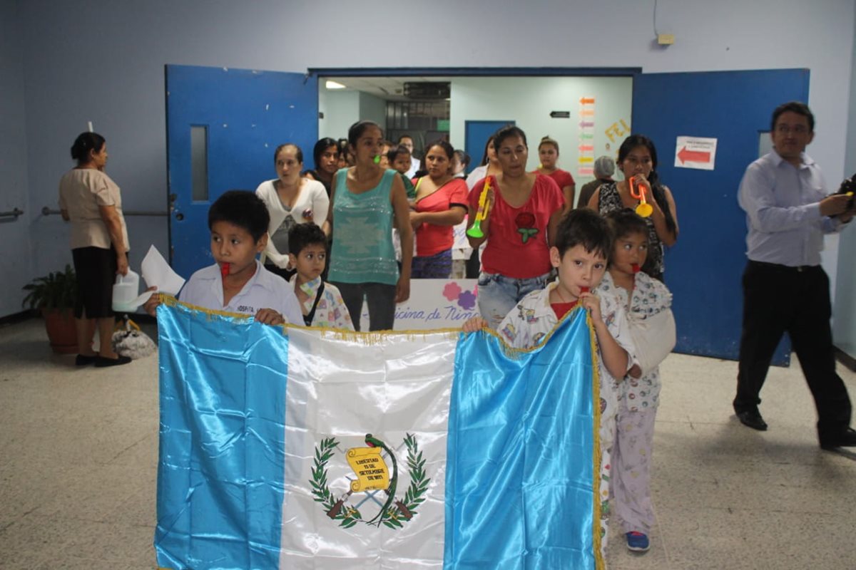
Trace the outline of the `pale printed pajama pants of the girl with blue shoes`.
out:
<instances>
[{"instance_id":1,"label":"pale printed pajama pants of the girl with blue shoes","mask_svg":"<svg viewBox=\"0 0 856 570\"><path fill-rule=\"evenodd\" d=\"M651 507L651 450L657 408L638 412L619 403L612 448L612 510L623 532L649 534L654 524Z\"/></svg>"}]
</instances>

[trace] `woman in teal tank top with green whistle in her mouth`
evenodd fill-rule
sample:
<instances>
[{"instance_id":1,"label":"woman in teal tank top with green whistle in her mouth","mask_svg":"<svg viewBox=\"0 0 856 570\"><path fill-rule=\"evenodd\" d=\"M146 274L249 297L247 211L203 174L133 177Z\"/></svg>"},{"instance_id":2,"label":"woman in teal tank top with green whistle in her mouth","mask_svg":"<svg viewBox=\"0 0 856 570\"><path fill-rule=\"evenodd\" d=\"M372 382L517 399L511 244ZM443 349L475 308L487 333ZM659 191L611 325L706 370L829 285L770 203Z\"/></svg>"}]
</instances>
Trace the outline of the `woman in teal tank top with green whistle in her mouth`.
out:
<instances>
[{"instance_id":1,"label":"woman in teal tank top with green whistle in her mouth","mask_svg":"<svg viewBox=\"0 0 856 570\"><path fill-rule=\"evenodd\" d=\"M395 171L375 162L383 144L380 126L370 120L355 123L348 129L348 143L354 149L355 166L334 175L324 223L328 235L336 226L329 279L342 292L357 331L364 298L370 330L389 330L395 321L395 303L410 297L410 206ZM393 226L401 236L401 271L395 261Z\"/></svg>"}]
</instances>

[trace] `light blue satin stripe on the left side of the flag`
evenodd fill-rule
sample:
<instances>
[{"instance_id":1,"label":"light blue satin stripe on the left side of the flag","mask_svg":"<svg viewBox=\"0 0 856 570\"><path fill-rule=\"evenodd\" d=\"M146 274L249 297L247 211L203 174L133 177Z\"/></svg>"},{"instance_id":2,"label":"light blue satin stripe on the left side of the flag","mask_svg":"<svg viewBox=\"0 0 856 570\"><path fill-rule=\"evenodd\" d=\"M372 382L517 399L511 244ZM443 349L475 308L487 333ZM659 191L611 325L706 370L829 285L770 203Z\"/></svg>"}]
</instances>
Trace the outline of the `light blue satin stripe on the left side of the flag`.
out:
<instances>
[{"instance_id":1,"label":"light blue satin stripe on the left side of the flag","mask_svg":"<svg viewBox=\"0 0 856 570\"><path fill-rule=\"evenodd\" d=\"M181 305L158 329L158 566L276 568L288 338Z\"/></svg>"}]
</instances>

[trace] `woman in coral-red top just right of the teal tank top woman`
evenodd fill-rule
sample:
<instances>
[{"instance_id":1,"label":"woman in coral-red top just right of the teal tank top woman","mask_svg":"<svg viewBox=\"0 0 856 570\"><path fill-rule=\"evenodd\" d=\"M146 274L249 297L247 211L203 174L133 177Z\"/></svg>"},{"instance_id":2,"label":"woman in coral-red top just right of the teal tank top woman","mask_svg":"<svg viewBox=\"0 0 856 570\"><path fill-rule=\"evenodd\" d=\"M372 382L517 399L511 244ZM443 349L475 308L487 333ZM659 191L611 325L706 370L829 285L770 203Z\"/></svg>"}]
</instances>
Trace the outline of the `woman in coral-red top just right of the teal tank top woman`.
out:
<instances>
[{"instance_id":1,"label":"woman in coral-red top just right of the teal tank top woman","mask_svg":"<svg viewBox=\"0 0 856 570\"><path fill-rule=\"evenodd\" d=\"M449 279L452 273L452 230L467 214L467 183L452 174L455 149L438 140L425 150L428 174L413 179L416 185L415 211L410 223L416 232L416 256L412 279Z\"/></svg>"}]
</instances>

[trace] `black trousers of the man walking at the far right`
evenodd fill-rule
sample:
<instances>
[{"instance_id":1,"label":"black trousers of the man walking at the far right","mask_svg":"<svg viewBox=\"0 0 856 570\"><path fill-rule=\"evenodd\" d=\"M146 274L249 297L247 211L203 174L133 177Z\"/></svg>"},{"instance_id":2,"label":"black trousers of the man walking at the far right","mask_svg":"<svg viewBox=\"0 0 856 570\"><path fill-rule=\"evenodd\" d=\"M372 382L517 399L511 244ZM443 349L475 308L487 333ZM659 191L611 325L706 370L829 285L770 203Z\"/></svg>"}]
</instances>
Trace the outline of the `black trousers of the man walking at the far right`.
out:
<instances>
[{"instance_id":1,"label":"black trousers of the man walking at the far right","mask_svg":"<svg viewBox=\"0 0 856 570\"><path fill-rule=\"evenodd\" d=\"M822 267L749 261L743 273L743 330L734 409L761 403L759 394L782 334L788 332L817 408L817 434L834 438L850 426L847 388L835 373L829 278Z\"/></svg>"}]
</instances>

